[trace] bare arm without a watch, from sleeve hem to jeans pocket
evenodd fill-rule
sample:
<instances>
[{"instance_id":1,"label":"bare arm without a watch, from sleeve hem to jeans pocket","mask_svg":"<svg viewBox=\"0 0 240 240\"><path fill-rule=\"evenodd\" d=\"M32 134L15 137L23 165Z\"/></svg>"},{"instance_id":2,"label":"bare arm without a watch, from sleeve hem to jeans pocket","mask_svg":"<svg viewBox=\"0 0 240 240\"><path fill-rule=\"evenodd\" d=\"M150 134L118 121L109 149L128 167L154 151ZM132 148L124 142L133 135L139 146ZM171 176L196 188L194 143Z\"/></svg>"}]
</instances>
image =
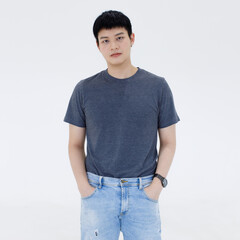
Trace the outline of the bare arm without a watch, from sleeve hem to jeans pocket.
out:
<instances>
[{"instance_id":1,"label":"bare arm without a watch, from sleeve hem to jeans pocket","mask_svg":"<svg viewBox=\"0 0 240 240\"><path fill-rule=\"evenodd\" d=\"M73 174L81 195L88 195L93 191L93 187L88 182L85 168L85 132L86 128L69 124L68 153Z\"/></svg>"}]
</instances>

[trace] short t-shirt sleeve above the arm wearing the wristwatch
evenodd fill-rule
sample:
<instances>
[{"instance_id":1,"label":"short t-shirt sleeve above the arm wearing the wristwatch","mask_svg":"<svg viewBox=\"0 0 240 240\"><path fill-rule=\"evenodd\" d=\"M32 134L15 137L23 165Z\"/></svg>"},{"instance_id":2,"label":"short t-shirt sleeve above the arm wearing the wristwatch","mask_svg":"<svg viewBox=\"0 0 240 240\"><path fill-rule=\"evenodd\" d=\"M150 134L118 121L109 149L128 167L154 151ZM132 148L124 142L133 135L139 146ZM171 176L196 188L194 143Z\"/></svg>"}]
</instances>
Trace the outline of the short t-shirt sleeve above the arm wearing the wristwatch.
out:
<instances>
[{"instance_id":1,"label":"short t-shirt sleeve above the arm wearing the wristwatch","mask_svg":"<svg viewBox=\"0 0 240 240\"><path fill-rule=\"evenodd\" d=\"M159 101L158 128L165 128L180 121L176 112L172 91L163 78Z\"/></svg>"}]
</instances>

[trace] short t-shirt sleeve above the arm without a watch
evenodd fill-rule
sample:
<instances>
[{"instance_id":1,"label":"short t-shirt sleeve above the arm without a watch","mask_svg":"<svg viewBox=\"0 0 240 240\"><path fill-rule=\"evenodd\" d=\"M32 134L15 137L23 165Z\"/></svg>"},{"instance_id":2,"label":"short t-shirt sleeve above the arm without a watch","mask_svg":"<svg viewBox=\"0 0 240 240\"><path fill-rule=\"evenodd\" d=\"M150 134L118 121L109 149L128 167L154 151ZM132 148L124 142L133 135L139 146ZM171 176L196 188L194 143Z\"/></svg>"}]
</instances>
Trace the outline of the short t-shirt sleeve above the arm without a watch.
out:
<instances>
[{"instance_id":1,"label":"short t-shirt sleeve above the arm without a watch","mask_svg":"<svg viewBox=\"0 0 240 240\"><path fill-rule=\"evenodd\" d=\"M83 89L81 82L75 86L72 92L63 121L78 127L86 127L86 118L83 108Z\"/></svg>"}]
</instances>

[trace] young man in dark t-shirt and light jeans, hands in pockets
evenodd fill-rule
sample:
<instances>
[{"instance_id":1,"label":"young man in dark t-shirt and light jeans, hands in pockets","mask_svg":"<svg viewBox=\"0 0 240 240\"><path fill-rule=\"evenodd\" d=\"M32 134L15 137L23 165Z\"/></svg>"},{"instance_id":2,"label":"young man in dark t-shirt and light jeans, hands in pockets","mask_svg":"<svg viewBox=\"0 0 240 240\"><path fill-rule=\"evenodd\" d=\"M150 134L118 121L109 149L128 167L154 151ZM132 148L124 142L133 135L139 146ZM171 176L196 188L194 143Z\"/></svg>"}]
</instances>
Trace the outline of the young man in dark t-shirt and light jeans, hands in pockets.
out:
<instances>
[{"instance_id":1,"label":"young man in dark t-shirt and light jeans, hands in pockets","mask_svg":"<svg viewBox=\"0 0 240 240\"><path fill-rule=\"evenodd\" d=\"M160 240L159 195L180 121L173 95L163 77L132 65L127 16L103 12L93 33L108 68L76 84L64 117L81 194L81 239L117 240L122 231L125 240Z\"/></svg>"}]
</instances>

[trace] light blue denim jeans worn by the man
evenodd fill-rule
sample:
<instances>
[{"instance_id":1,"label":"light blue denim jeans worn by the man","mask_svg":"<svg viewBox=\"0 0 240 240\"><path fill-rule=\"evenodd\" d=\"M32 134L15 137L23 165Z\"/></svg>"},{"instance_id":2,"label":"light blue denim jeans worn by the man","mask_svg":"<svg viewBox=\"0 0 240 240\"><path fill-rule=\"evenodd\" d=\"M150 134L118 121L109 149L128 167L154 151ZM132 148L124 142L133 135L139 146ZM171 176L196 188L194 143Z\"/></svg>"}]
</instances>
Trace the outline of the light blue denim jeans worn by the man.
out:
<instances>
[{"instance_id":1,"label":"light blue denim jeans worn by the man","mask_svg":"<svg viewBox=\"0 0 240 240\"><path fill-rule=\"evenodd\" d=\"M94 192L81 197L81 240L161 240L159 201L144 188L153 175L113 178L87 172Z\"/></svg>"}]
</instances>

